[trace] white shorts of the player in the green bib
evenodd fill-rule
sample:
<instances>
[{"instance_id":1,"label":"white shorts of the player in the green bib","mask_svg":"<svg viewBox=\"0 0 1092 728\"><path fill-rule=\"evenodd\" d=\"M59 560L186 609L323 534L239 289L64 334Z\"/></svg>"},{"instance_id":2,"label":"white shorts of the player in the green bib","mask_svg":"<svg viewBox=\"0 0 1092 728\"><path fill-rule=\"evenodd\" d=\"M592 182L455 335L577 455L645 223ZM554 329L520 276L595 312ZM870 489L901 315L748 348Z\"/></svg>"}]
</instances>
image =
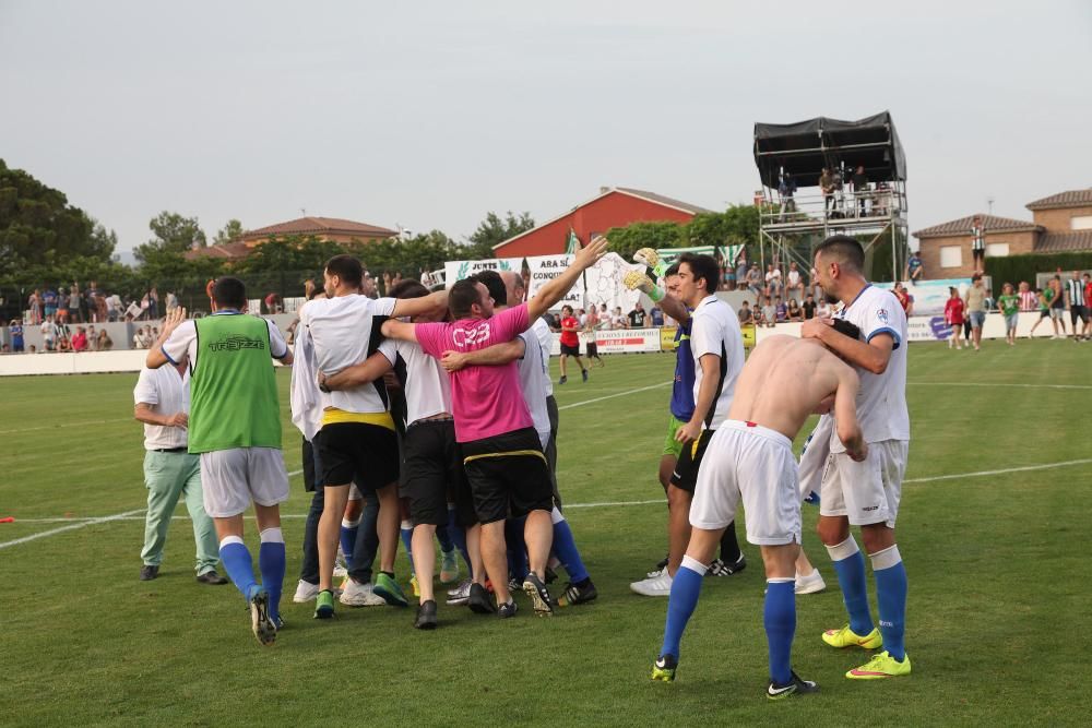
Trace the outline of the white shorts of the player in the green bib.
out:
<instances>
[{"instance_id":1,"label":"white shorts of the player in the green bib","mask_svg":"<svg viewBox=\"0 0 1092 728\"><path fill-rule=\"evenodd\" d=\"M276 447L235 447L201 453L205 511L214 518L239 515L253 501L276 505L288 500L288 473Z\"/></svg>"}]
</instances>

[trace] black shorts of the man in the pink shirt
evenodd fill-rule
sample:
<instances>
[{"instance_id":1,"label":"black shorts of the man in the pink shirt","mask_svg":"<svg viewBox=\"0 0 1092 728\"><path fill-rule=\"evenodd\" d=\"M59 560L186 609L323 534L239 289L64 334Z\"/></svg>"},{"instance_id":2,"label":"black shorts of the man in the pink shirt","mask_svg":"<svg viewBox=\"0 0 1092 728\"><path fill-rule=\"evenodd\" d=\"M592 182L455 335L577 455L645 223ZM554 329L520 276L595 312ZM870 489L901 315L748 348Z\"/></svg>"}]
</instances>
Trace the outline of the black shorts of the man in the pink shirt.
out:
<instances>
[{"instance_id":1,"label":"black shorts of the man in the pink shirt","mask_svg":"<svg viewBox=\"0 0 1092 728\"><path fill-rule=\"evenodd\" d=\"M464 442L462 449L480 523L554 510L549 467L533 427Z\"/></svg>"}]
</instances>

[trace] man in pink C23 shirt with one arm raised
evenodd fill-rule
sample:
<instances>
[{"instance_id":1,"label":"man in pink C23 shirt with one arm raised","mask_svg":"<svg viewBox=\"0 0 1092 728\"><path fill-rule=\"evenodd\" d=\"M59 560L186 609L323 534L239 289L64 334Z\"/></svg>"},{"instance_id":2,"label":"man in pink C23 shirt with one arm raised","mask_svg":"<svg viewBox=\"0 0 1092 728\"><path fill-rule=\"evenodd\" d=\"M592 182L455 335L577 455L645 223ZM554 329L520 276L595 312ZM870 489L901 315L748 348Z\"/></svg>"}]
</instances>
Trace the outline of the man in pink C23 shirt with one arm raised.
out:
<instances>
[{"instance_id":1,"label":"man in pink C23 shirt with one arm raised","mask_svg":"<svg viewBox=\"0 0 1092 728\"><path fill-rule=\"evenodd\" d=\"M448 294L453 323L391 320L383 323L383 335L417 342L436 358L444 351L475 351L510 342L561 300L606 248L606 239L592 240L577 252L572 265L543 286L537 296L497 315L492 314L492 299L485 285L460 281ZM549 616L554 607L545 577L553 539L553 487L515 362L471 366L451 372L451 405L474 511L482 522L482 557L497 596L498 614L507 618L515 613L508 590L505 520L526 515L523 538L531 572L523 590L531 597L535 613Z\"/></svg>"}]
</instances>

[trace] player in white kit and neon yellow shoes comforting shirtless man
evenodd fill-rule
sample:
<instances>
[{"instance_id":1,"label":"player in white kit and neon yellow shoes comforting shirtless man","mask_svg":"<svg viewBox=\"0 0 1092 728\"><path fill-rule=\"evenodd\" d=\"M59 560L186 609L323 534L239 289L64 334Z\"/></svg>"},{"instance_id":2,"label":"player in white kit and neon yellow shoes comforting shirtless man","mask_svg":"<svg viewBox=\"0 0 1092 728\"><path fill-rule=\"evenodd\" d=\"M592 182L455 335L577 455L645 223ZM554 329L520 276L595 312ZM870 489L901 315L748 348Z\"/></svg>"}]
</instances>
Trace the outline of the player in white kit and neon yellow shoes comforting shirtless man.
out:
<instances>
[{"instance_id":1,"label":"player in white kit and neon yellow shoes comforting shirtless man","mask_svg":"<svg viewBox=\"0 0 1092 728\"><path fill-rule=\"evenodd\" d=\"M855 460L835 431L820 486L819 538L834 562L850 620L822 639L832 647L883 646L859 668L855 680L910 675L904 646L906 569L895 544L902 478L910 449L906 409L906 317L891 291L871 286L864 276L860 243L844 235L823 240L815 267L826 295L841 301L839 318L860 330L863 341L840 333L830 319L805 321L800 335L818 338L857 371L860 392L857 419L868 443L868 457ZM835 417L836 419L836 417ZM836 428L835 428L836 430ZM876 576L879 629L873 622L865 581L865 559L850 533L859 526Z\"/></svg>"}]
</instances>

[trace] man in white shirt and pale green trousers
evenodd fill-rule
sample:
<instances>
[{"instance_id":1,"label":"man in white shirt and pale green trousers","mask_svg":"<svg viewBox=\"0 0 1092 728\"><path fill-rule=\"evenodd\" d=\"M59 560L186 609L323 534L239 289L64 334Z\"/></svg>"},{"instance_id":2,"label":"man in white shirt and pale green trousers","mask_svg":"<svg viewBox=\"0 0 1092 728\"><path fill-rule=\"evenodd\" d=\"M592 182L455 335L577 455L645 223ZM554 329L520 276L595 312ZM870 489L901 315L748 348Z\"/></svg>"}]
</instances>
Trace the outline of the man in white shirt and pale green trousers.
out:
<instances>
[{"instance_id":1,"label":"man in white shirt and pale green trousers","mask_svg":"<svg viewBox=\"0 0 1092 728\"><path fill-rule=\"evenodd\" d=\"M134 417L144 423L144 450L147 451L144 455L147 515L140 580L146 582L159 575L167 527L179 497L185 497L197 545L198 581L227 584L227 580L216 573L219 563L216 528L202 503L201 458L187 452L190 373L186 357L174 367L141 369L133 398Z\"/></svg>"}]
</instances>

